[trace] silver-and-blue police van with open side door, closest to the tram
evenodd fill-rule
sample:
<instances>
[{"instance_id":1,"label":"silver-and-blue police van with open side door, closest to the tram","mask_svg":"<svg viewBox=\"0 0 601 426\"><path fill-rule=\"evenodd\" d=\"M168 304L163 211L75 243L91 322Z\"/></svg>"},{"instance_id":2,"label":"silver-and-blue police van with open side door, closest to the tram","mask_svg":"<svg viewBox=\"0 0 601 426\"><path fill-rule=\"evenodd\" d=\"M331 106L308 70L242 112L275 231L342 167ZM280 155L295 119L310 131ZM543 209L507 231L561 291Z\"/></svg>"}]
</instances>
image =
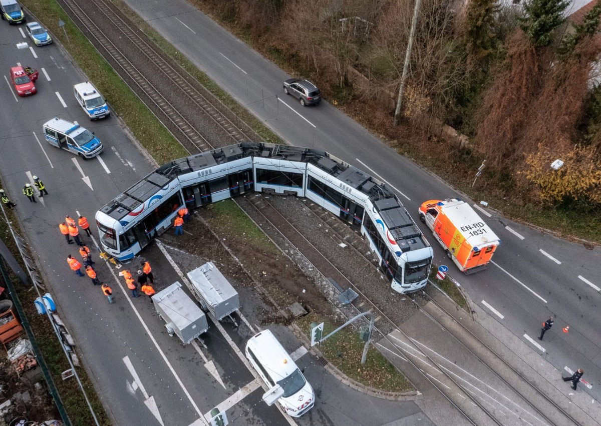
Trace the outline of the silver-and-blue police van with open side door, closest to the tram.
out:
<instances>
[{"instance_id":1,"label":"silver-and-blue police van with open side door, closest to the tram","mask_svg":"<svg viewBox=\"0 0 601 426\"><path fill-rule=\"evenodd\" d=\"M77 154L84 160L102 153L102 142L90 130L62 118L52 118L44 123L44 138L56 148Z\"/></svg>"}]
</instances>

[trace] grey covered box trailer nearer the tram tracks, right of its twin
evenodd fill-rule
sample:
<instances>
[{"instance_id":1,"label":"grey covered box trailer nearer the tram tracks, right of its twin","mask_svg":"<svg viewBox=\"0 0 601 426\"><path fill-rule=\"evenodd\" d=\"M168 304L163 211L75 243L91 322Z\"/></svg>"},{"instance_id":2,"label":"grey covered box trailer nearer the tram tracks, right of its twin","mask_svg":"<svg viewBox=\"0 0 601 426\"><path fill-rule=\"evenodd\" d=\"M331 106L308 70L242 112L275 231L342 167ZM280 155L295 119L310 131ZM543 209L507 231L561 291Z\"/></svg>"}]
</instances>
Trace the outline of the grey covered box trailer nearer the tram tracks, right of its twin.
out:
<instances>
[{"instance_id":1,"label":"grey covered box trailer nearer the tram tracks, right of its twin","mask_svg":"<svg viewBox=\"0 0 601 426\"><path fill-rule=\"evenodd\" d=\"M205 311L211 312L218 321L230 317L236 324L231 314L240 308L240 298L213 262L188 272L188 278L194 287L192 293Z\"/></svg>"}]
</instances>

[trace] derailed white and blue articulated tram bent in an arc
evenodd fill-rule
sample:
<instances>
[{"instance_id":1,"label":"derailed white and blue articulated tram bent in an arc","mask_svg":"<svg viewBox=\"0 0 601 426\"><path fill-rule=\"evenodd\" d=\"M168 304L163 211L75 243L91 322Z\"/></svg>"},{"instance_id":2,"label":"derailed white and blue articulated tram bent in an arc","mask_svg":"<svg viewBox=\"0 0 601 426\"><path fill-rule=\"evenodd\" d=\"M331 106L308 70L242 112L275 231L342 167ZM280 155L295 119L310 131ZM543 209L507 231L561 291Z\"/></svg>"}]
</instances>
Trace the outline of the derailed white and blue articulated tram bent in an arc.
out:
<instances>
[{"instance_id":1,"label":"derailed white and blue articulated tram bent in an arc","mask_svg":"<svg viewBox=\"0 0 601 426\"><path fill-rule=\"evenodd\" d=\"M311 199L361 230L395 291L426 285L433 251L397 196L311 148L243 142L167 163L96 213L100 242L127 261L171 227L182 204L197 208L250 191Z\"/></svg>"}]
</instances>

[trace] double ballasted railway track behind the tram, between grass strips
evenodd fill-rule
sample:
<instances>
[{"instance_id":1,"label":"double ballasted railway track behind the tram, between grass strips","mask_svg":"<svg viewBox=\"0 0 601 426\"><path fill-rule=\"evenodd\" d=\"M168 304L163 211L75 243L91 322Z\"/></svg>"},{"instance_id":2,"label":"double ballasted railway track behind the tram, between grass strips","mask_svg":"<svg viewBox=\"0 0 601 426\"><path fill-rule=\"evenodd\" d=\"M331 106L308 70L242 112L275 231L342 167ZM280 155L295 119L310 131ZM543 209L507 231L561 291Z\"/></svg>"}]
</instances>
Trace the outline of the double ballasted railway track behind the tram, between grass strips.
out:
<instances>
[{"instance_id":1,"label":"double ballasted railway track behind the tram, between grass strips","mask_svg":"<svg viewBox=\"0 0 601 426\"><path fill-rule=\"evenodd\" d=\"M121 73L125 75L124 81L133 82L135 87L128 84L142 102L145 102L149 108L154 106L151 111L160 111L160 114L156 112L154 114L171 130L189 153L198 153L216 147L215 141L209 142L206 138L203 130L200 129L201 126L194 124L198 121L198 112L204 113L216 127L223 131L224 135L227 135L227 141L219 145L260 139L246 124L242 126L234 124L229 117L235 115L227 106L217 99L209 99L212 95L201 93L203 88L199 87L200 84L186 70L174 64L170 58L166 58L164 53L153 47L151 41L133 31L135 25L123 19L115 5L104 0L95 2L61 0L61 3L80 29L88 35L88 38L91 37L90 41L100 54L105 56L109 63L116 64L121 69ZM96 8L96 13L102 14L111 22L110 30L100 28L96 19L90 16L91 8ZM118 43L112 41L114 37L108 34L109 31L122 35ZM132 50L138 54L133 54ZM162 78L171 84L153 84L148 75L153 73L153 70L157 70ZM116 71L118 72L117 69ZM176 105L181 99L186 99L194 108L185 108L182 111L182 108ZM243 126L246 129L240 128Z\"/></svg>"}]
</instances>

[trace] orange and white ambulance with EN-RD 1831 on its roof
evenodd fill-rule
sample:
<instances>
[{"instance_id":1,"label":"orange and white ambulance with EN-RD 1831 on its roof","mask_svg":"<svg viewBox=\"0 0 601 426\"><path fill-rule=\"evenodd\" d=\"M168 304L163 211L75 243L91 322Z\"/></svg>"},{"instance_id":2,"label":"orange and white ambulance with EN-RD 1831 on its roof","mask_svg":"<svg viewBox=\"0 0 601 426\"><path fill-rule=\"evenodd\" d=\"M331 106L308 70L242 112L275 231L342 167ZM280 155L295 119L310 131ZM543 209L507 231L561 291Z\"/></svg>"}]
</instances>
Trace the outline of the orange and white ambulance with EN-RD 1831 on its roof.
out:
<instances>
[{"instance_id":1,"label":"orange and white ambulance with EN-RD 1831 on its roof","mask_svg":"<svg viewBox=\"0 0 601 426\"><path fill-rule=\"evenodd\" d=\"M419 206L419 220L432 230L447 256L466 274L486 269L501 244L474 209L459 198L424 202Z\"/></svg>"}]
</instances>

